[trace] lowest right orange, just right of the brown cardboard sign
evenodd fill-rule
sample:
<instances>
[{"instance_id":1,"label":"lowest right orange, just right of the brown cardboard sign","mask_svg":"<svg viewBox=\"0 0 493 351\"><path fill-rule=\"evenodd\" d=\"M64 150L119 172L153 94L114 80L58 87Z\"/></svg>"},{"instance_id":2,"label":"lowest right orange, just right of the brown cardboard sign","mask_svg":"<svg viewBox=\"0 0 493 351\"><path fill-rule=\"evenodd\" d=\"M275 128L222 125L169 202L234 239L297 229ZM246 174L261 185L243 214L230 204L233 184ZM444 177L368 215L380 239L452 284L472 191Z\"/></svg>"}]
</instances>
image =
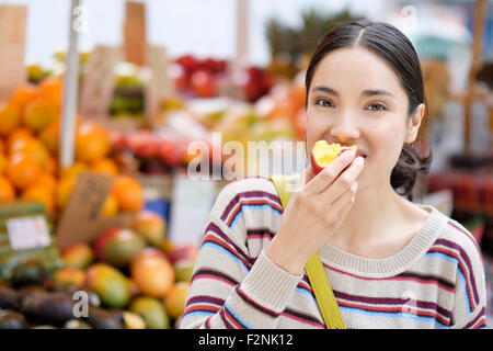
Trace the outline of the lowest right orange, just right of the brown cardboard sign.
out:
<instances>
[{"instance_id":1,"label":"lowest right orange, just right of the brown cardboard sign","mask_svg":"<svg viewBox=\"0 0 493 351\"><path fill-rule=\"evenodd\" d=\"M138 212L144 207L142 188L131 177L117 177L113 183L113 195L122 211Z\"/></svg>"}]
</instances>

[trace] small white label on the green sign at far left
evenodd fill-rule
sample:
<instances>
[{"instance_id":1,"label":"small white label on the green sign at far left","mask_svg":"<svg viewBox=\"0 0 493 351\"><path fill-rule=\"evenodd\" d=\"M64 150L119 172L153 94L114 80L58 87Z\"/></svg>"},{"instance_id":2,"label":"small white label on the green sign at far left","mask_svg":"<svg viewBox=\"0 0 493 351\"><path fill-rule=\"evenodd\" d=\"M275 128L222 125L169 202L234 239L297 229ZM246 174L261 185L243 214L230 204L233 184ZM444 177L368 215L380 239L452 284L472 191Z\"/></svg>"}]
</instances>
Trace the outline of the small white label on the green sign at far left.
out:
<instances>
[{"instance_id":1,"label":"small white label on the green sign at far left","mask_svg":"<svg viewBox=\"0 0 493 351\"><path fill-rule=\"evenodd\" d=\"M10 246L14 250L43 248L51 244L46 218L19 217L7 220Z\"/></svg>"}]
</instances>

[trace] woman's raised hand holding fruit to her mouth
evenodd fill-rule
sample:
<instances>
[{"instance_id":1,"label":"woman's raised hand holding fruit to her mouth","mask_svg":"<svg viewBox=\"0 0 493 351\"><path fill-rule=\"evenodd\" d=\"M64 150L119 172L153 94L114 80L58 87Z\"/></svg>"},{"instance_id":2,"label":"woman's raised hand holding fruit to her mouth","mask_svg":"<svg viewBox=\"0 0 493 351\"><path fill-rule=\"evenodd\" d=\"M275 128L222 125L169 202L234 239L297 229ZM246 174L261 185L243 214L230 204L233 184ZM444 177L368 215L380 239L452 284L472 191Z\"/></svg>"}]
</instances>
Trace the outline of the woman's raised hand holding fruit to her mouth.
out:
<instances>
[{"instance_id":1,"label":"woman's raised hand holding fruit to her mouth","mask_svg":"<svg viewBox=\"0 0 493 351\"><path fill-rule=\"evenodd\" d=\"M311 166L305 169L265 250L274 263L301 274L308 259L339 229L353 206L363 165L363 157L346 151L317 176Z\"/></svg>"}]
</instances>

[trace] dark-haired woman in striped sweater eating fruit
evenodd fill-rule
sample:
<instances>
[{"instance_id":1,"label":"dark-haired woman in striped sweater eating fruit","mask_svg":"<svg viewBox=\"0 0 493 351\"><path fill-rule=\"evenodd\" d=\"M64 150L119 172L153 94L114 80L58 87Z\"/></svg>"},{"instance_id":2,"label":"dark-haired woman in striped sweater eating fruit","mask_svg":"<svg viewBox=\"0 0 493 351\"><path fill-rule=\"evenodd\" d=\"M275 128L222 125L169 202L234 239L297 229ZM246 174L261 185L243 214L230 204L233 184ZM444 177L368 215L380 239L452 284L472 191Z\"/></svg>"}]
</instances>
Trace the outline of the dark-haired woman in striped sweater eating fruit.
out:
<instances>
[{"instance_id":1,"label":"dark-haired woman in striped sweater eating fruit","mask_svg":"<svg viewBox=\"0 0 493 351\"><path fill-rule=\"evenodd\" d=\"M409 39L358 20L321 39L306 76L307 146L356 145L302 172L283 211L270 179L226 186L210 213L182 328L324 328L303 272L318 251L348 328L484 328L472 235L411 197L427 171L425 114Z\"/></svg>"}]
</instances>

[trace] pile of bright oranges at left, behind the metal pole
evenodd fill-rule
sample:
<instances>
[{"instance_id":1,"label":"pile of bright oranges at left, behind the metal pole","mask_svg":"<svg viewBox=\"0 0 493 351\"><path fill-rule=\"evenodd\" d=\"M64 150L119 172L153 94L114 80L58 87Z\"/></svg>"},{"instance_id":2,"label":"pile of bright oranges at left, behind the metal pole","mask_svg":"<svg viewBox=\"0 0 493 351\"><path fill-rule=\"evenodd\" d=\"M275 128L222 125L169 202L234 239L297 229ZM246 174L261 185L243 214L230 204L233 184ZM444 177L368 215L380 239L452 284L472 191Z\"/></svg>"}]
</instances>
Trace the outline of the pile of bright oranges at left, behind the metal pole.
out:
<instances>
[{"instance_id":1,"label":"pile of bright oranges at left, behind the metal pole","mask_svg":"<svg viewBox=\"0 0 493 351\"><path fill-rule=\"evenodd\" d=\"M112 158L108 131L102 125L78 116L76 162L58 169L61 89L61 80L50 77L19 87L0 105L0 203L38 201L48 214L60 214L80 172L91 170L115 177L103 215L140 211L141 186L122 174Z\"/></svg>"}]
</instances>

